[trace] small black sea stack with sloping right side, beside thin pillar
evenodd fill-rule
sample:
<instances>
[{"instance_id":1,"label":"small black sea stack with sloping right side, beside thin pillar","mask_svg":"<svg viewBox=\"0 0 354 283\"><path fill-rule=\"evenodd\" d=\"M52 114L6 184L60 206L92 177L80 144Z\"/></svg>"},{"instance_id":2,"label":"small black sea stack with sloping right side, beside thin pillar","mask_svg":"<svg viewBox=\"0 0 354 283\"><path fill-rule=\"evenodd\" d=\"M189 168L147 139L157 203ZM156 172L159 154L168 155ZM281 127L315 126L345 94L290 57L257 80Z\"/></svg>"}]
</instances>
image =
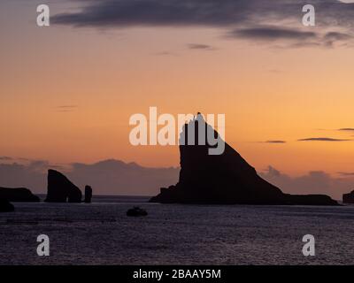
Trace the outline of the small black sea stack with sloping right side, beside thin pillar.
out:
<instances>
[{"instance_id":1,"label":"small black sea stack with sloping right side, beside thin pillar","mask_svg":"<svg viewBox=\"0 0 354 283\"><path fill-rule=\"evenodd\" d=\"M82 193L61 172L48 171L48 193L44 202L47 203L81 203Z\"/></svg>"}]
</instances>

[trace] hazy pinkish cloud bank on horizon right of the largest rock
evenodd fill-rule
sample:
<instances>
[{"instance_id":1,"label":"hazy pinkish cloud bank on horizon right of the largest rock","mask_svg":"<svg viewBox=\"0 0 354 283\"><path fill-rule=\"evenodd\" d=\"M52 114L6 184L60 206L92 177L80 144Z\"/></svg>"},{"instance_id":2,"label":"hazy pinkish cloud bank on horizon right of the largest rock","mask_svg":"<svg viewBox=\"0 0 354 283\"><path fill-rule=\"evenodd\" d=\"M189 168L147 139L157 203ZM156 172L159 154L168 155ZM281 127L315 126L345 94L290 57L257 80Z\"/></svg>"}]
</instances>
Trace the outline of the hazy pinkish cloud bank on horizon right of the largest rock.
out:
<instances>
[{"instance_id":1,"label":"hazy pinkish cloud bank on horizon right of the largest rock","mask_svg":"<svg viewBox=\"0 0 354 283\"><path fill-rule=\"evenodd\" d=\"M269 166L266 172L259 172L259 175L288 194L326 194L336 200L342 199L342 194L350 192L354 186L354 175L335 178L322 171L291 177Z\"/></svg>"}]
</instances>

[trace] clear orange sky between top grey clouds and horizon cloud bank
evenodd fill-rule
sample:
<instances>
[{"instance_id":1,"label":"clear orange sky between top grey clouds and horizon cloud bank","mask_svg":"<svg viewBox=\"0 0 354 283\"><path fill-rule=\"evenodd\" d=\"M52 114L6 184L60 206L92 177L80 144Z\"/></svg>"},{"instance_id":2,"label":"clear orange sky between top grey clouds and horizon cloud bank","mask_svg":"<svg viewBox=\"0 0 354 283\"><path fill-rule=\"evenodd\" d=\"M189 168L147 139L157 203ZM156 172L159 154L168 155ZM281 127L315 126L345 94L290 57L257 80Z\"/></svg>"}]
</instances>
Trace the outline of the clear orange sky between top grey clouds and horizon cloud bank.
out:
<instances>
[{"instance_id":1,"label":"clear orange sky between top grey clouds and horizon cloud bank","mask_svg":"<svg viewBox=\"0 0 354 283\"><path fill-rule=\"evenodd\" d=\"M350 48L274 48L206 27L40 28L32 6L17 8L0 12L1 155L175 166L177 147L128 141L129 117L157 106L225 113L227 142L259 171L354 171L354 142L296 142L353 138L335 130L354 126Z\"/></svg>"}]
</instances>

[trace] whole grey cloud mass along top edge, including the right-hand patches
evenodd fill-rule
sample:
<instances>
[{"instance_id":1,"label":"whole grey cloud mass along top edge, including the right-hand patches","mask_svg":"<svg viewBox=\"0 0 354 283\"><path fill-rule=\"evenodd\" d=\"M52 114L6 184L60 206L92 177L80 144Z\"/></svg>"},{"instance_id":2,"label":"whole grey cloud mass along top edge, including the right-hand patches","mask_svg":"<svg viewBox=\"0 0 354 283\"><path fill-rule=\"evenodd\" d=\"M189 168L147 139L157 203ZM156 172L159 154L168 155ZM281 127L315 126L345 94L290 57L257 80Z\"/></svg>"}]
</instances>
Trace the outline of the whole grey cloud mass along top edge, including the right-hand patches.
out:
<instances>
[{"instance_id":1,"label":"whole grey cloud mass along top edge, including the right-hand patches","mask_svg":"<svg viewBox=\"0 0 354 283\"><path fill-rule=\"evenodd\" d=\"M51 17L73 27L218 27L229 36L263 41L291 40L289 46L334 46L348 42L354 4L312 0L316 26L303 27L305 0L100 0L79 1L81 9ZM276 23L274 27L264 27ZM328 31L329 29L329 31ZM333 30L330 30L333 29ZM322 31L322 32L320 32Z\"/></svg>"}]
</instances>

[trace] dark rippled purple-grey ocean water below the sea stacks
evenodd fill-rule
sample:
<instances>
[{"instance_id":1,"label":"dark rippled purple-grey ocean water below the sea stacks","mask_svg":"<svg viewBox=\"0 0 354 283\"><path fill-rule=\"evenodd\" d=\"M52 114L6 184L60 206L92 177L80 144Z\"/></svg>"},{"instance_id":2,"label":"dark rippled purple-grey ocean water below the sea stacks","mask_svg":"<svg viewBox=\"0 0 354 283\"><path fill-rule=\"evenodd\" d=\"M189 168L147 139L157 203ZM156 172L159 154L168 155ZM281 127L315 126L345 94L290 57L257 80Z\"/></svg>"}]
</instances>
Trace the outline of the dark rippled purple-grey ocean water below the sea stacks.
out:
<instances>
[{"instance_id":1,"label":"dark rippled purple-grey ocean water below the sea stacks","mask_svg":"<svg viewBox=\"0 0 354 283\"><path fill-rule=\"evenodd\" d=\"M178 205L143 197L15 203L0 214L0 264L354 264L354 207ZM144 218L128 218L139 205ZM39 234L50 256L37 256ZM316 256L303 256L305 234Z\"/></svg>"}]
</instances>

